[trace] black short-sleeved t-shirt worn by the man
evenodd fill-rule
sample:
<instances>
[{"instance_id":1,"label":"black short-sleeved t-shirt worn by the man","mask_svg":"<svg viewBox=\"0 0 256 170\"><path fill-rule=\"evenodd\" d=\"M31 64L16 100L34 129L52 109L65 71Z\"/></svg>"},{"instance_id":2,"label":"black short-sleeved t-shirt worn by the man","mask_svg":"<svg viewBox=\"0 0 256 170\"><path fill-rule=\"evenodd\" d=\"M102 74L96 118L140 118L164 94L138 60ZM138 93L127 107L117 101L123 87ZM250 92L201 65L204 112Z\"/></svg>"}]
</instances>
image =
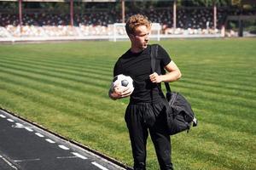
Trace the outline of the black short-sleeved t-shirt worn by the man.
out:
<instances>
[{"instance_id":1,"label":"black short-sleeved t-shirt worn by the man","mask_svg":"<svg viewBox=\"0 0 256 170\"><path fill-rule=\"evenodd\" d=\"M134 103L158 103L163 97L156 84L149 79L149 75L152 74L150 47L148 45L146 49L137 54L132 53L129 49L114 65L113 77L124 74L133 79L135 89L131 94L131 102ZM162 66L168 65L172 60L160 45L157 58Z\"/></svg>"}]
</instances>

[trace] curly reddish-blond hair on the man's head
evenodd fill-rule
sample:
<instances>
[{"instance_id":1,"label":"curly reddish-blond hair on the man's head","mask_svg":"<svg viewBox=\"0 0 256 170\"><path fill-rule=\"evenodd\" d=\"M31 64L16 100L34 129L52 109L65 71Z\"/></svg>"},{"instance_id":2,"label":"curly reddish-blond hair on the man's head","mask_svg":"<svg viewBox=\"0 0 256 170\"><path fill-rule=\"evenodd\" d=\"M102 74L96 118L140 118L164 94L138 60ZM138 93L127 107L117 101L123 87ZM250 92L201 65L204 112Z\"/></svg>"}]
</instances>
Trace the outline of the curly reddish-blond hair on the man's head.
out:
<instances>
[{"instance_id":1,"label":"curly reddish-blond hair on the man's head","mask_svg":"<svg viewBox=\"0 0 256 170\"><path fill-rule=\"evenodd\" d=\"M147 26L147 28L151 27L151 22L148 20L148 17L143 14L134 14L126 21L125 31L127 35L134 34L137 26Z\"/></svg>"}]
</instances>

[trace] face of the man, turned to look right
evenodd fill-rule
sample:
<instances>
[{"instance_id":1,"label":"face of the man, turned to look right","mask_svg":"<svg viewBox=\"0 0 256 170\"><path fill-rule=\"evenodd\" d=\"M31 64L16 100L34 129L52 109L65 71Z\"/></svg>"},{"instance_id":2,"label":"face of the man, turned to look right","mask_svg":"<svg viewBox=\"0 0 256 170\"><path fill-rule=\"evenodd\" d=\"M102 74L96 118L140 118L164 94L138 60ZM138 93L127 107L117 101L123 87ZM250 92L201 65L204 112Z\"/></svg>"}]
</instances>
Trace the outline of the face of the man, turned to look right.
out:
<instances>
[{"instance_id":1,"label":"face of the man, turned to look right","mask_svg":"<svg viewBox=\"0 0 256 170\"><path fill-rule=\"evenodd\" d=\"M145 49L148 46L149 28L147 26L137 26L134 34L131 35L131 44L134 48Z\"/></svg>"}]
</instances>

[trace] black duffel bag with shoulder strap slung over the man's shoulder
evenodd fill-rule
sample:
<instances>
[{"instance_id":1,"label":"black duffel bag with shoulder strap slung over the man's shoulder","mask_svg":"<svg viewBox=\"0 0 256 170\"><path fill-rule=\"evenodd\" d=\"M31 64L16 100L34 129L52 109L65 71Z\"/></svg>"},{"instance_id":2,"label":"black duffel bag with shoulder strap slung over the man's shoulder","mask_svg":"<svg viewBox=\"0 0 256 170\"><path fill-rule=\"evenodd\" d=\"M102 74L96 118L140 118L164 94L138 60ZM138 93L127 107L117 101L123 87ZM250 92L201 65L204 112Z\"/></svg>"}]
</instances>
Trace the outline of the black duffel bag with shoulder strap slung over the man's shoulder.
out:
<instances>
[{"instance_id":1,"label":"black duffel bag with shoulder strap slung over the man's shoulder","mask_svg":"<svg viewBox=\"0 0 256 170\"><path fill-rule=\"evenodd\" d=\"M152 72L157 70L158 74L163 75L166 74L166 71L160 66L159 62L156 62L158 54L157 51L158 45L151 45L151 69ZM168 82L165 82L165 85L167 91L165 101L167 107L166 125L168 134L173 135L185 130L189 132L191 125L193 125L193 127L197 126L197 120L191 105L189 104L188 100L183 97L182 94L172 92ZM158 88L160 89L160 92L162 92L159 85Z\"/></svg>"}]
</instances>

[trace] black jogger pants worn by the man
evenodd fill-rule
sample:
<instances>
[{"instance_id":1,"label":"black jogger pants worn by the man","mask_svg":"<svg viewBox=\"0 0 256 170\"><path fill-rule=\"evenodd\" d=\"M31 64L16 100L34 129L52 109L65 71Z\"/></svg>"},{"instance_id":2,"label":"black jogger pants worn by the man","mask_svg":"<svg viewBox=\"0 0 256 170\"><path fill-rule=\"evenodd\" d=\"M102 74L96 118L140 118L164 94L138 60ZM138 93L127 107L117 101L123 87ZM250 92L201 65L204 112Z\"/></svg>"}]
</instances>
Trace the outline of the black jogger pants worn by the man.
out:
<instances>
[{"instance_id":1,"label":"black jogger pants worn by the man","mask_svg":"<svg viewBox=\"0 0 256 170\"><path fill-rule=\"evenodd\" d=\"M171 139L166 133L166 105L143 103L129 104L125 111L125 122L129 129L134 170L146 169L146 144L148 131L154 143L154 149L161 170L170 170Z\"/></svg>"}]
</instances>

